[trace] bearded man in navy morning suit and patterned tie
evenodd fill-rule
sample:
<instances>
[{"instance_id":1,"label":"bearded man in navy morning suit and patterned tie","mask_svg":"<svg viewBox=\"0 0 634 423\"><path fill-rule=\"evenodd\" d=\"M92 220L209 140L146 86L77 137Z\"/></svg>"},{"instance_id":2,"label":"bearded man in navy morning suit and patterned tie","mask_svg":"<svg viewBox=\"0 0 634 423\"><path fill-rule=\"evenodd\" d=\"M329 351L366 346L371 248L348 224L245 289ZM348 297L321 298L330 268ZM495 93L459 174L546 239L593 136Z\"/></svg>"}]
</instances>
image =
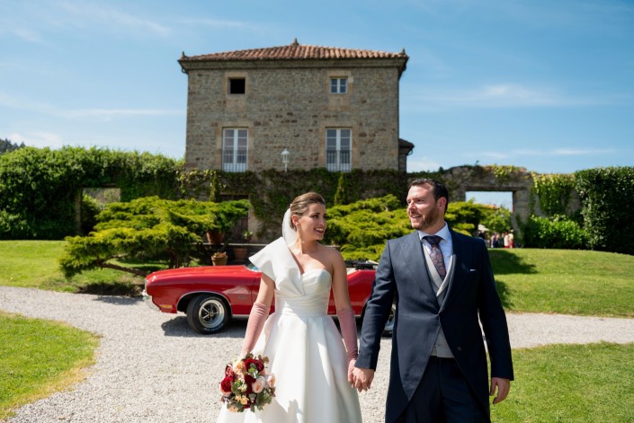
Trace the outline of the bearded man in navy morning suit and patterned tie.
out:
<instances>
[{"instance_id":1,"label":"bearded man in navy morning suit and patterned tie","mask_svg":"<svg viewBox=\"0 0 634 423\"><path fill-rule=\"evenodd\" d=\"M448 203L442 183L411 183L407 216L416 231L386 244L366 307L353 372L359 391L371 386L380 335L397 304L386 423L490 421L488 395L497 391L493 403L503 401L513 380L487 247L451 230L444 221Z\"/></svg>"}]
</instances>

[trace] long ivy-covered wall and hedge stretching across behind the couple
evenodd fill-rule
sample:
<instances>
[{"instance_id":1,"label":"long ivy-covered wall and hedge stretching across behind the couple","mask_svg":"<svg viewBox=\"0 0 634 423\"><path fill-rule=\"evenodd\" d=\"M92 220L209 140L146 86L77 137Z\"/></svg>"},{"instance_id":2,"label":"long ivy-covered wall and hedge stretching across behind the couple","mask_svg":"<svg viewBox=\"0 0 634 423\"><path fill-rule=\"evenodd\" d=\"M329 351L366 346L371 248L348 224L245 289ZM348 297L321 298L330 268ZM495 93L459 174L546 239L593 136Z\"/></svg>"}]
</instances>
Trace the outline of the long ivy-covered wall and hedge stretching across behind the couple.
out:
<instances>
[{"instance_id":1,"label":"long ivy-covered wall and hedge stretching across behind the couple","mask_svg":"<svg viewBox=\"0 0 634 423\"><path fill-rule=\"evenodd\" d=\"M82 189L117 187L121 201L148 196L248 198L259 240L270 241L279 236L283 213L299 194L317 191L329 207L391 194L405 206L409 182L416 178L443 181L451 201L464 200L466 190L513 190L515 201L521 190L527 198L530 195L533 214L567 216L583 227L589 248L634 254L634 241L628 236L634 229L632 167L572 175L531 174L513 166L417 173L185 172L183 161L161 155L80 147L24 147L0 154L0 239L62 239L78 234Z\"/></svg>"}]
</instances>

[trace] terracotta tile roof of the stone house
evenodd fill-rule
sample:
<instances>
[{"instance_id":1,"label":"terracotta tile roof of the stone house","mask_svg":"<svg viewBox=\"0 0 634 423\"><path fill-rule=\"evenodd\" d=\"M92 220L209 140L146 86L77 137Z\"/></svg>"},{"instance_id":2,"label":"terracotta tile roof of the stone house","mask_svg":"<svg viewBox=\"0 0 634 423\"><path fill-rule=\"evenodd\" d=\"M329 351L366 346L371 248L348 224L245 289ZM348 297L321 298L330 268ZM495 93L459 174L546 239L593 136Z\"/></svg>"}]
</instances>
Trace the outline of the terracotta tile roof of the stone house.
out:
<instances>
[{"instance_id":1,"label":"terracotta tile roof of the stone house","mask_svg":"<svg viewBox=\"0 0 634 423\"><path fill-rule=\"evenodd\" d=\"M346 59L346 58L408 58L405 48L400 53L388 53L385 51L360 50L354 48L335 48L307 46L299 44L295 40L288 46L251 48L248 50L226 51L211 53L201 56L185 56L183 61L233 61L233 60L301 60L301 59Z\"/></svg>"}]
</instances>

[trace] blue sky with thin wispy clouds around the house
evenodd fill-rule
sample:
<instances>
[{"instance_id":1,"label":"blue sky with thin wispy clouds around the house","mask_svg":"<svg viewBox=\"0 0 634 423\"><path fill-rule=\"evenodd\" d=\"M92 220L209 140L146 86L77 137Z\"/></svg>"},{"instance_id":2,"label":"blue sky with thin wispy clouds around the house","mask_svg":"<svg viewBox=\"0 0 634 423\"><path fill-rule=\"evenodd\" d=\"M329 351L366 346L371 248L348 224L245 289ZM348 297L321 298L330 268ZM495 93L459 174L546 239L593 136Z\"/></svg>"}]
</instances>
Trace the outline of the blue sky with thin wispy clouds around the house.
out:
<instances>
[{"instance_id":1,"label":"blue sky with thin wispy clouds around the house","mask_svg":"<svg viewBox=\"0 0 634 423\"><path fill-rule=\"evenodd\" d=\"M406 49L409 171L634 165L630 0L3 0L0 138L183 157L181 52L296 37Z\"/></svg>"}]
</instances>

